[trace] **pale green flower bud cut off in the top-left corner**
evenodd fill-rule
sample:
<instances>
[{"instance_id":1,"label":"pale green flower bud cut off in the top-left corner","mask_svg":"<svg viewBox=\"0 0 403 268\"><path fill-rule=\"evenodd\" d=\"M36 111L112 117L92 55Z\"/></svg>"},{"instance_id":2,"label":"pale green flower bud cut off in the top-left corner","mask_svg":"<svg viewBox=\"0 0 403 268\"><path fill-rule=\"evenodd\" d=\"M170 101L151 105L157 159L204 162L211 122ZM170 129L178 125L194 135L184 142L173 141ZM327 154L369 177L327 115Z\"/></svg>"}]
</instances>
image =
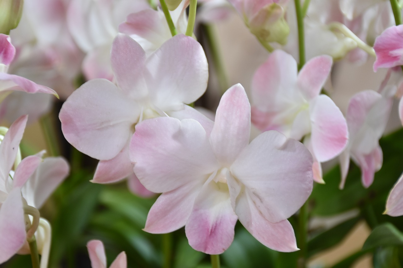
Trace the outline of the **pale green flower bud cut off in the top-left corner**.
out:
<instances>
[{"instance_id":1,"label":"pale green flower bud cut off in the top-left corner","mask_svg":"<svg viewBox=\"0 0 403 268\"><path fill-rule=\"evenodd\" d=\"M8 35L17 27L23 13L24 0L0 0L0 33Z\"/></svg>"}]
</instances>

